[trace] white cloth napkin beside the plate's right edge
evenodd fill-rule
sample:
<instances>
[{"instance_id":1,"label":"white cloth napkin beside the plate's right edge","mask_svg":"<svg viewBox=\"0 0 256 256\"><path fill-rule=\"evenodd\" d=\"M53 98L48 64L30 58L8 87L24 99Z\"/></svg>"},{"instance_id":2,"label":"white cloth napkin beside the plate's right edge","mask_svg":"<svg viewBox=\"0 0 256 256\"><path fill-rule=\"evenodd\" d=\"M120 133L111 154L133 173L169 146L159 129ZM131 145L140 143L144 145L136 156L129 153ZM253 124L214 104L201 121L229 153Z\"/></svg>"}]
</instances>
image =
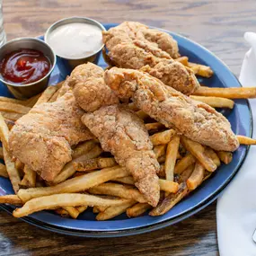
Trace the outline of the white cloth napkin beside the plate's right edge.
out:
<instances>
[{"instance_id":1,"label":"white cloth napkin beside the plate's right edge","mask_svg":"<svg viewBox=\"0 0 256 256\"><path fill-rule=\"evenodd\" d=\"M256 86L256 33L246 32L244 39L251 45L245 54L239 80L245 87ZM250 100L253 137L256 138L256 99ZM256 146L249 154L234 181L217 201L217 238L220 256L255 256L256 243Z\"/></svg>"}]
</instances>

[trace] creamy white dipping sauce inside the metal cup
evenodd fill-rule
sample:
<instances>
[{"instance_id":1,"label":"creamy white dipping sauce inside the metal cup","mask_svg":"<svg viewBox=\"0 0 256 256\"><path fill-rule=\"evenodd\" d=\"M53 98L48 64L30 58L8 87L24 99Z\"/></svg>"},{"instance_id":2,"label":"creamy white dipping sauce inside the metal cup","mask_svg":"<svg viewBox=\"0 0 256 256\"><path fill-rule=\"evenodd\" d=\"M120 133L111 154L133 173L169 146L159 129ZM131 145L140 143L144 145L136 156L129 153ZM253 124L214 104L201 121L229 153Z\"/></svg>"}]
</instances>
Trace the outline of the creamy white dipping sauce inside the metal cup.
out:
<instances>
[{"instance_id":1,"label":"creamy white dipping sauce inside the metal cup","mask_svg":"<svg viewBox=\"0 0 256 256\"><path fill-rule=\"evenodd\" d=\"M102 29L81 22L64 24L49 34L49 45L60 57L88 57L102 48Z\"/></svg>"}]
</instances>

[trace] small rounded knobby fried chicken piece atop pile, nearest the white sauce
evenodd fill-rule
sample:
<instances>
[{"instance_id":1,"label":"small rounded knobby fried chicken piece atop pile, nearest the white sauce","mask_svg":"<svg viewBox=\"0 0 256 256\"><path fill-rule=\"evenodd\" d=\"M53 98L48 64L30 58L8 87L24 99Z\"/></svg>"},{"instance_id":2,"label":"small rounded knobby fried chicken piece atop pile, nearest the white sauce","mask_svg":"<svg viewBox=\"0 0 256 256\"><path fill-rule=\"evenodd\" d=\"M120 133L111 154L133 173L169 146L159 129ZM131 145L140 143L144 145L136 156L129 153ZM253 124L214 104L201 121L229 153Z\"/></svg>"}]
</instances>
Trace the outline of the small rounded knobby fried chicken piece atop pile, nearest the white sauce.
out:
<instances>
[{"instance_id":1,"label":"small rounded knobby fried chicken piece atop pile, nearest the white sauce","mask_svg":"<svg viewBox=\"0 0 256 256\"><path fill-rule=\"evenodd\" d=\"M85 111L91 112L119 102L117 95L106 86L103 74L102 67L88 62L76 66L69 77L69 86L73 88L75 100Z\"/></svg>"}]
</instances>

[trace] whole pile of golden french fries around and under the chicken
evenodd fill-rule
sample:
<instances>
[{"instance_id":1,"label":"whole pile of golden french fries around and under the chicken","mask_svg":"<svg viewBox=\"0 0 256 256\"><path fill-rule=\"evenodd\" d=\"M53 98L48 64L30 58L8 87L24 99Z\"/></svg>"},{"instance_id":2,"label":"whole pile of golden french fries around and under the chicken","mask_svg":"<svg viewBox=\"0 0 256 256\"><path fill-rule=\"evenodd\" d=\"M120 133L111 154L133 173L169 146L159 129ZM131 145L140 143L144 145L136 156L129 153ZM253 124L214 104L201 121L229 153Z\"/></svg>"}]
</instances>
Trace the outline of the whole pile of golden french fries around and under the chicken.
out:
<instances>
[{"instance_id":1,"label":"whole pile of golden french fries around and under the chicken","mask_svg":"<svg viewBox=\"0 0 256 256\"><path fill-rule=\"evenodd\" d=\"M195 74L210 77L209 66L190 63L188 57L179 57ZM10 179L15 195L0 197L1 204L17 206L13 216L28 216L40 210L51 210L57 215L77 218L88 207L93 207L97 220L107 220L122 213L128 217L143 215L160 216L174 207L181 199L196 190L203 181L216 172L221 163L232 161L230 152L216 152L183 137L174 129L167 129L130 103L128 108L144 119L146 129L154 145L154 153L161 165L158 172L161 199L157 207L151 207L135 187L132 176L116 163L114 157L103 152L97 139L80 143L73 149L72 161L52 182L43 181L27 165L14 159L9 152L8 136L14 122L31 108L42 102L55 102L65 93L63 82L49 86L40 95L26 101L0 97L0 176ZM255 98L255 88L200 87L190 96L214 108L234 108L231 99ZM256 140L237 136L244 145L255 145Z\"/></svg>"}]
</instances>

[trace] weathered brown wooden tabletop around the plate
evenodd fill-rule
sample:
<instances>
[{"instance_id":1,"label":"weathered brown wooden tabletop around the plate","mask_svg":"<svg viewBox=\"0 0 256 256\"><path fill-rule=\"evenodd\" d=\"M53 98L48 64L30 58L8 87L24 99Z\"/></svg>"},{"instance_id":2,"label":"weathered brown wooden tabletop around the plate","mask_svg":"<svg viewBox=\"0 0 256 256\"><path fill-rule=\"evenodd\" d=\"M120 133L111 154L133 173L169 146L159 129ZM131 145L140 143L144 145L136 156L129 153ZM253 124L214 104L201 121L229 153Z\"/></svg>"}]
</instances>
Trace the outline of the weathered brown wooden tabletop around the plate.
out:
<instances>
[{"instance_id":1,"label":"weathered brown wooden tabletop around the plate","mask_svg":"<svg viewBox=\"0 0 256 256\"><path fill-rule=\"evenodd\" d=\"M68 16L100 22L144 22L196 40L239 75L248 49L243 33L256 29L256 1L4 0L8 40L43 34ZM0 255L217 255L216 204L163 230L136 236L89 239L41 230L0 211Z\"/></svg>"}]
</instances>

